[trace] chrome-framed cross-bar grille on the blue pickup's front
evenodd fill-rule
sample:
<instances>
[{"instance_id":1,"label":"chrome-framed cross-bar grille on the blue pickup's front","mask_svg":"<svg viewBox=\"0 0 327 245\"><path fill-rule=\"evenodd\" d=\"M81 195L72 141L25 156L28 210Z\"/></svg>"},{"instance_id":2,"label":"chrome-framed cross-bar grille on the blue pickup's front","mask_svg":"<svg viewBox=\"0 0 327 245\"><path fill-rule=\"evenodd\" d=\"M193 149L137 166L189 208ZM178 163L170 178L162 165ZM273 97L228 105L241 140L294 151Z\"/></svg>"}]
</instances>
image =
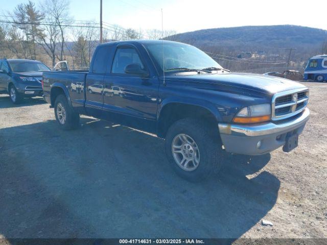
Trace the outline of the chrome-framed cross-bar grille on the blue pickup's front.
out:
<instances>
[{"instance_id":1,"label":"chrome-framed cross-bar grille on the blue pickup's front","mask_svg":"<svg viewBox=\"0 0 327 245\"><path fill-rule=\"evenodd\" d=\"M272 120L281 120L303 111L309 100L309 90L295 89L276 93L272 97Z\"/></svg>"}]
</instances>

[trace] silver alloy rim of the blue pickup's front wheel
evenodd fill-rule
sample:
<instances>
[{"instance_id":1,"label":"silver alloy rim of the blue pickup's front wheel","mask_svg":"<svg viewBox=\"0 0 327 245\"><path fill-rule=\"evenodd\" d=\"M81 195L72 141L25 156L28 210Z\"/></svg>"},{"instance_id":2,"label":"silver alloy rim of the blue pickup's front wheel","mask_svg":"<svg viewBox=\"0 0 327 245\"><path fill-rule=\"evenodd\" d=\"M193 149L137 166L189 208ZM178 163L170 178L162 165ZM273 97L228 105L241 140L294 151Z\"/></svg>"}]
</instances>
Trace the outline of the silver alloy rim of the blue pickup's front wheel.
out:
<instances>
[{"instance_id":1,"label":"silver alloy rim of the blue pickup's front wheel","mask_svg":"<svg viewBox=\"0 0 327 245\"><path fill-rule=\"evenodd\" d=\"M185 171L194 171L200 163L200 151L195 140L187 134L178 134L172 142L176 164Z\"/></svg>"}]
</instances>

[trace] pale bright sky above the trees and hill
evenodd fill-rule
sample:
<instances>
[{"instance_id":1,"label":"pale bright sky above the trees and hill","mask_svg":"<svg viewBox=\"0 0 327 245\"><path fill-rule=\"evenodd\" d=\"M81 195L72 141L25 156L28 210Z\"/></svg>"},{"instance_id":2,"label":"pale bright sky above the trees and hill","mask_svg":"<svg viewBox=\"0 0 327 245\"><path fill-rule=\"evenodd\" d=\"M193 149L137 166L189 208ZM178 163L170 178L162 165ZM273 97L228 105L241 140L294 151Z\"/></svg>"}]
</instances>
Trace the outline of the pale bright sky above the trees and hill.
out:
<instances>
[{"instance_id":1,"label":"pale bright sky above the trees and hill","mask_svg":"<svg viewBox=\"0 0 327 245\"><path fill-rule=\"evenodd\" d=\"M0 0L0 15L27 2L28 0ZM33 2L36 5L42 4L42 0ZM75 20L100 21L100 0L70 2L69 17ZM326 0L103 0L103 21L119 24L123 28L161 30L161 9L164 29L175 30L177 33L276 24L327 30Z\"/></svg>"}]
</instances>

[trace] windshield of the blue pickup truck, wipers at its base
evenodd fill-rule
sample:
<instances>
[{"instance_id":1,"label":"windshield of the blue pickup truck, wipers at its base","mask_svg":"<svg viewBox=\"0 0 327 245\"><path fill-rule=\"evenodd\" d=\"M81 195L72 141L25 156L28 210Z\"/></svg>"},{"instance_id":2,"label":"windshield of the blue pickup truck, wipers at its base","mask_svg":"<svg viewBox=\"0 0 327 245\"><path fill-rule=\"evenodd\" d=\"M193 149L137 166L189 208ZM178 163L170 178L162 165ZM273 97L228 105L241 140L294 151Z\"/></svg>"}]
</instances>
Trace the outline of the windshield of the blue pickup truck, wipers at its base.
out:
<instances>
[{"instance_id":1,"label":"windshield of the blue pickup truck, wipers at its base","mask_svg":"<svg viewBox=\"0 0 327 245\"><path fill-rule=\"evenodd\" d=\"M164 70L162 56L165 57L165 72L174 70L188 71L185 68L198 70L214 67L222 68L215 60L192 45L164 42L163 50L162 43L149 43L145 44L145 46L161 70Z\"/></svg>"}]
</instances>

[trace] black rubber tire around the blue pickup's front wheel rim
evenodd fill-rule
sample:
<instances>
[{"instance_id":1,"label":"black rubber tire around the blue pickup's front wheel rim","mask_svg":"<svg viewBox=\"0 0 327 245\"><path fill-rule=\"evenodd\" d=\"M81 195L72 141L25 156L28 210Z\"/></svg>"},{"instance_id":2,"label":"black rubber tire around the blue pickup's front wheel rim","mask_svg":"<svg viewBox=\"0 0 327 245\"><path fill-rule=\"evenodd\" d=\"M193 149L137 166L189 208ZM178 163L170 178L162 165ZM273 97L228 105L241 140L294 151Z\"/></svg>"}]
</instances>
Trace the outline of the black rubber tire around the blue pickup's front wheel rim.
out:
<instances>
[{"instance_id":1,"label":"black rubber tire around the blue pickup's front wheel rim","mask_svg":"<svg viewBox=\"0 0 327 245\"><path fill-rule=\"evenodd\" d=\"M199 163L194 170L184 170L174 159L172 143L179 134L190 136L198 146ZM213 127L199 119L185 118L176 121L167 132L165 150L172 168L180 177L190 182L199 182L208 179L211 174L218 173L221 167L220 156L222 154L222 148L218 131L215 131Z\"/></svg>"}]
</instances>

